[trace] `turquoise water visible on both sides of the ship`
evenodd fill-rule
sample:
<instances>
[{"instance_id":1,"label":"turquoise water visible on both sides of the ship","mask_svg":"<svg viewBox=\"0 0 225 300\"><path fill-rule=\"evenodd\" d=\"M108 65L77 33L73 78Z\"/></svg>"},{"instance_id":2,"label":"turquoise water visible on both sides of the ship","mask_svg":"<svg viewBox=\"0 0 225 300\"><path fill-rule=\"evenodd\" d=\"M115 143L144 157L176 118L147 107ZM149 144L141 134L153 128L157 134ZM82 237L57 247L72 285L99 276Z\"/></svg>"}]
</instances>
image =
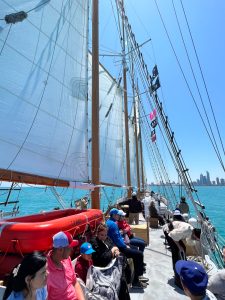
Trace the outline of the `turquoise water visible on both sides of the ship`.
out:
<instances>
[{"instance_id":1,"label":"turquoise water visible on both sides of the ship","mask_svg":"<svg viewBox=\"0 0 225 300\"><path fill-rule=\"evenodd\" d=\"M153 190L157 190L156 187ZM205 205L206 214L217 228L217 231L225 238L225 187L197 187L198 196L201 202ZM74 206L74 200L88 195L87 191L76 189L58 188L57 191L63 197L66 205ZM105 191L105 192L104 192ZM179 188L174 187L174 191L179 195ZM107 194L107 197L106 195ZM114 199L122 197L124 190L104 188L101 190L101 209L106 210L109 203L113 203ZM5 200L6 192L0 191L1 202ZM51 210L54 207L60 206L50 189L41 187L24 187L20 192L14 191L10 196L10 200L17 200L19 198L20 215L27 215L37 213L42 210ZM89 203L91 206L91 203ZM8 207L0 207L5 211L9 211L13 205ZM193 209L192 209L193 210Z\"/></svg>"}]
</instances>

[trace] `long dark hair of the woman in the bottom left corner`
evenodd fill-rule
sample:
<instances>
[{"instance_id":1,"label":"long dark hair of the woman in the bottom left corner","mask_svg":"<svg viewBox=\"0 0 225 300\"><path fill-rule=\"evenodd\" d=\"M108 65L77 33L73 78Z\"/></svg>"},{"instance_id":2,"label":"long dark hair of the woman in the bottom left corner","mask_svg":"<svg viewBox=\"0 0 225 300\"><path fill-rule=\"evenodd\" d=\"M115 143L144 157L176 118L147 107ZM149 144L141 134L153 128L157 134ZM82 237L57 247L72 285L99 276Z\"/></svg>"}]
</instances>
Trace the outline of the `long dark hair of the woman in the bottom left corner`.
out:
<instances>
[{"instance_id":1,"label":"long dark hair of the woman in the bottom left corner","mask_svg":"<svg viewBox=\"0 0 225 300\"><path fill-rule=\"evenodd\" d=\"M6 300L12 291L20 292L28 290L29 287L25 281L27 276L31 279L35 277L36 273L46 265L46 257L39 252L34 252L26 255L21 264L17 265L11 272L8 280L8 284L3 296L3 300Z\"/></svg>"}]
</instances>

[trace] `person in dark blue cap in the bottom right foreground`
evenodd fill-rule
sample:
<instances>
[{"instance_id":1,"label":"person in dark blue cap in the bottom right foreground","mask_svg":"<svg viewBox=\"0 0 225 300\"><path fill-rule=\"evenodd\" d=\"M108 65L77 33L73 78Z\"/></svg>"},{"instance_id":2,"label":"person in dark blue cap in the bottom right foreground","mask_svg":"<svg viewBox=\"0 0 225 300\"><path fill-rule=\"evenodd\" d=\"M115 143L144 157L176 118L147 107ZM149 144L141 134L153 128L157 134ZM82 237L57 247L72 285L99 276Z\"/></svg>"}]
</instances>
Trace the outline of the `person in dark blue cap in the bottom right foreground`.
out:
<instances>
[{"instance_id":1,"label":"person in dark blue cap in the bottom right foreground","mask_svg":"<svg viewBox=\"0 0 225 300\"><path fill-rule=\"evenodd\" d=\"M190 260L179 260L175 268L184 292L191 300L216 300L207 290L208 275L200 264Z\"/></svg>"}]
</instances>

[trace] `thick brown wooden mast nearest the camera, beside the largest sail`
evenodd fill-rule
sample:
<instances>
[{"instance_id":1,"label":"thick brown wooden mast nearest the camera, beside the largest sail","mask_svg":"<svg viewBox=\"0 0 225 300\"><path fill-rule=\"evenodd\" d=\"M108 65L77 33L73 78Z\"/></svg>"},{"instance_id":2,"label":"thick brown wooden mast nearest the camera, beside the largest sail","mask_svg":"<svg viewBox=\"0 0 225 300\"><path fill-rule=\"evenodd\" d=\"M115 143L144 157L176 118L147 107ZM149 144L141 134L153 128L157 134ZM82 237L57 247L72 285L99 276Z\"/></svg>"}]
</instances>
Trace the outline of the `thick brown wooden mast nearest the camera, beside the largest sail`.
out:
<instances>
[{"instance_id":1,"label":"thick brown wooden mast nearest the camera, beside the largest sail","mask_svg":"<svg viewBox=\"0 0 225 300\"><path fill-rule=\"evenodd\" d=\"M92 2L92 183L99 185L99 28L98 0ZM92 208L100 208L99 187L91 193Z\"/></svg>"}]
</instances>

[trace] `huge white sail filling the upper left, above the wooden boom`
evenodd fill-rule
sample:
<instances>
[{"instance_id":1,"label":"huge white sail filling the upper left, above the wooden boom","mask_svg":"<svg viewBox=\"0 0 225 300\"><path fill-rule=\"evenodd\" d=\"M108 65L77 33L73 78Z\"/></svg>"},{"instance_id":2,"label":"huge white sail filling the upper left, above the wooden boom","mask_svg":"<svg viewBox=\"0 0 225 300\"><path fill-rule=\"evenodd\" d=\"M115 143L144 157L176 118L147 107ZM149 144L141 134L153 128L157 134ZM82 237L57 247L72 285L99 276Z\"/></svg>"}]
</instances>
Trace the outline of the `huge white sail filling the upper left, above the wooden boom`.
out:
<instances>
[{"instance_id":1,"label":"huge white sail filling the upper left, above the wooden boom","mask_svg":"<svg viewBox=\"0 0 225 300\"><path fill-rule=\"evenodd\" d=\"M1 1L0 19L0 169L87 180L88 0Z\"/></svg>"}]
</instances>

